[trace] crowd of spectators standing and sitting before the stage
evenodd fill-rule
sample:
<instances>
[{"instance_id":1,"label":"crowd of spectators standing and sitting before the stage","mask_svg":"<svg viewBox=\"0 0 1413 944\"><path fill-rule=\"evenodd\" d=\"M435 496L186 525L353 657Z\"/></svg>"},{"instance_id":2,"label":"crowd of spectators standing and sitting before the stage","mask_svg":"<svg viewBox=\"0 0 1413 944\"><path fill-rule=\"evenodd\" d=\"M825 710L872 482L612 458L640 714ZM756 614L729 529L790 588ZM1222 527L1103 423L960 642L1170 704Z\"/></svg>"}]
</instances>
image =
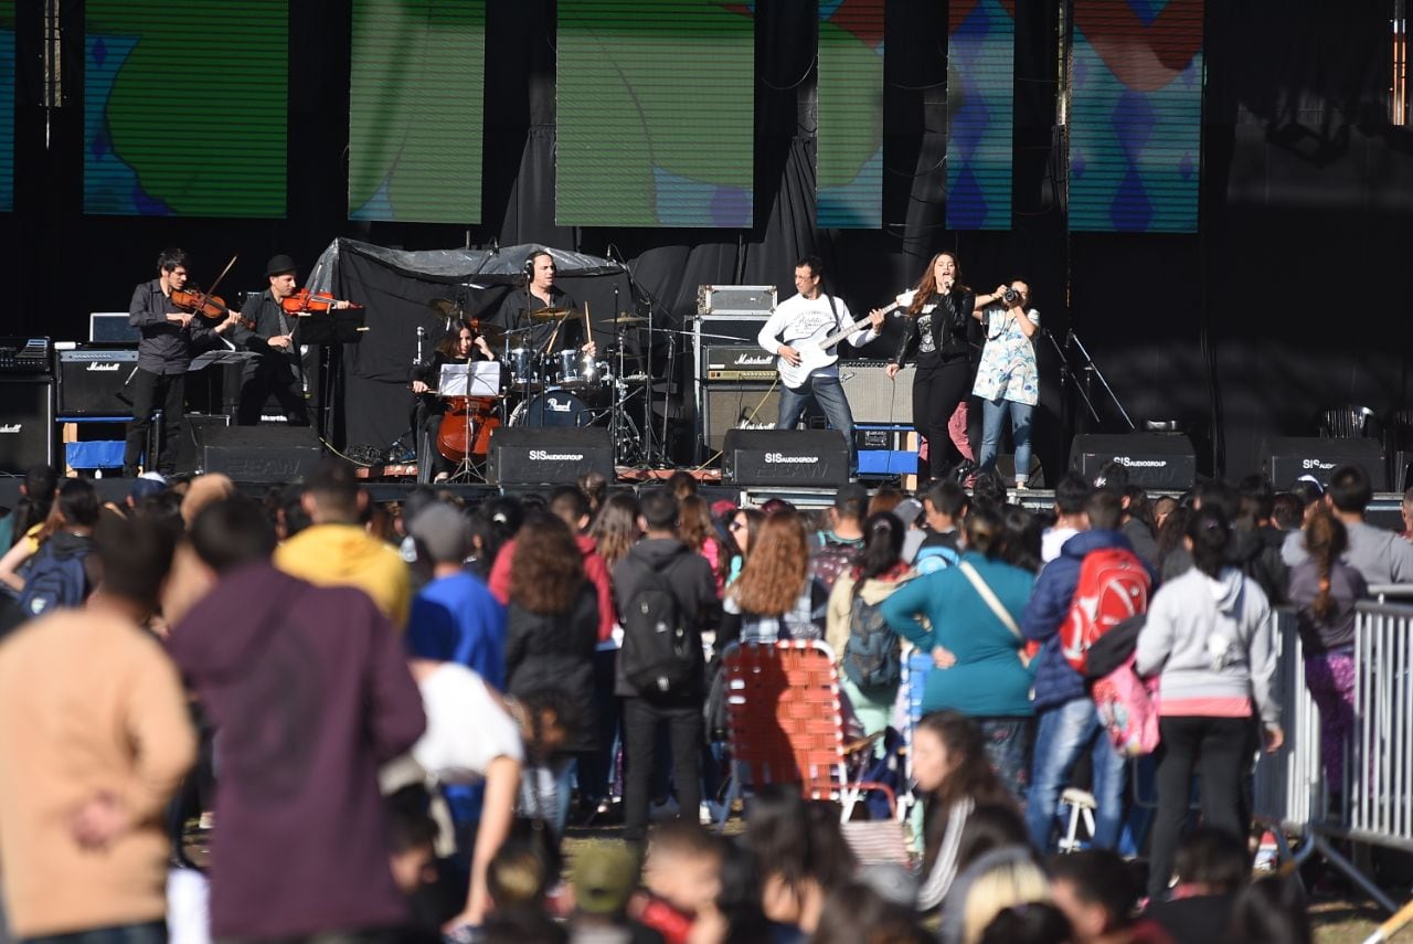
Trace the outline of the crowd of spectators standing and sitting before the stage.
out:
<instances>
[{"instance_id":1,"label":"crowd of spectators standing and sitting before the stage","mask_svg":"<svg viewBox=\"0 0 1413 944\"><path fill-rule=\"evenodd\" d=\"M1053 514L991 472L971 493L851 483L812 514L712 503L687 473L376 505L331 464L264 502L148 475L103 503L37 468L0 519L8 930L1310 940L1299 886L1252 879L1252 772L1291 695L1272 613L1297 613L1338 790L1354 606L1413 581L1371 499L1355 466L1157 500L1109 466L1058 482ZM832 654L851 750L906 770L911 868L788 784L745 798L739 837L702 825L735 813L722 656L783 640ZM1121 675L1152 716L1104 709L1096 680ZM1092 837L1057 855L1077 784ZM1154 794L1152 815L1133 800ZM567 856L582 825L622 830Z\"/></svg>"}]
</instances>

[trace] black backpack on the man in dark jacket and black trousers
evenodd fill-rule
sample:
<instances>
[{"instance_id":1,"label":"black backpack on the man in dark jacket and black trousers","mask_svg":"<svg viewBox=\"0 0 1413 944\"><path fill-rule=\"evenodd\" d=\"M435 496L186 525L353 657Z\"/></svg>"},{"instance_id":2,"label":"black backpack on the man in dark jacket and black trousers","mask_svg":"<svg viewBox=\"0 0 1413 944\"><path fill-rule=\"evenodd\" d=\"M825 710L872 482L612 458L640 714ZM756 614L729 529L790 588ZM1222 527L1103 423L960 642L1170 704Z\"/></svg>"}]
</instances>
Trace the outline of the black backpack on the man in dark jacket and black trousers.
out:
<instances>
[{"instance_id":1,"label":"black backpack on the man in dark jacket and black trousers","mask_svg":"<svg viewBox=\"0 0 1413 944\"><path fill-rule=\"evenodd\" d=\"M664 575L629 558L640 588L623 608L619 668L642 695L678 695L701 685L699 653ZM671 567L671 564L668 564Z\"/></svg>"}]
</instances>

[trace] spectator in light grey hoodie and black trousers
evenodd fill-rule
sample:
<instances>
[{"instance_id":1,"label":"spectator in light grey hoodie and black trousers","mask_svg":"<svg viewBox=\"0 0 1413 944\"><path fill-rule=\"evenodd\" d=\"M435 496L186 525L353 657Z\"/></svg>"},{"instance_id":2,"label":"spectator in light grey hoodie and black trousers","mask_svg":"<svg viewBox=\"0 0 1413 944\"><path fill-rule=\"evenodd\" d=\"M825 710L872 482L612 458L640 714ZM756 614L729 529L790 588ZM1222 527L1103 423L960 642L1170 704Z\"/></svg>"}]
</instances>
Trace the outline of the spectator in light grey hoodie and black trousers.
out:
<instances>
[{"instance_id":1,"label":"spectator in light grey hoodie and black trousers","mask_svg":"<svg viewBox=\"0 0 1413 944\"><path fill-rule=\"evenodd\" d=\"M1256 581L1228 564L1231 531L1217 506L1193 516L1187 526L1193 568L1154 594L1139 633L1135 668L1140 675L1159 675L1164 746L1149 865L1153 900L1167 892L1194 769L1201 779L1202 822L1246 835L1242 780L1255 748L1255 722L1265 729L1266 750L1284 741L1273 691L1270 605Z\"/></svg>"}]
</instances>

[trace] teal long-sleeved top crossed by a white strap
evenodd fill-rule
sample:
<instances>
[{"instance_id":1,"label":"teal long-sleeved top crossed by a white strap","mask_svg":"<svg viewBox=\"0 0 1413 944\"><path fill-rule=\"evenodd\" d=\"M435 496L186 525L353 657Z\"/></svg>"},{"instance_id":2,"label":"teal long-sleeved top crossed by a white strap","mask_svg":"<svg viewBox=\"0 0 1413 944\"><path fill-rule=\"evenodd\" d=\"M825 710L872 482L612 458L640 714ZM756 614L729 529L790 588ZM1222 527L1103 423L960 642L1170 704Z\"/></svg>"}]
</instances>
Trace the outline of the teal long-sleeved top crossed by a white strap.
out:
<instances>
[{"instance_id":1,"label":"teal long-sleeved top crossed by a white strap","mask_svg":"<svg viewBox=\"0 0 1413 944\"><path fill-rule=\"evenodd\" d=\"M1036 575L971 551L962 561L976 568L1019 625ZM1000 622L959 567L918 577L889 596L880 610L889 626L921 651L942 646L957 656L951 668L928 673L924 714L942 708L974 718L1034 714L1031 671L1020 664L1019 656L1024 640Z\"/></svg>"}]
</instances>

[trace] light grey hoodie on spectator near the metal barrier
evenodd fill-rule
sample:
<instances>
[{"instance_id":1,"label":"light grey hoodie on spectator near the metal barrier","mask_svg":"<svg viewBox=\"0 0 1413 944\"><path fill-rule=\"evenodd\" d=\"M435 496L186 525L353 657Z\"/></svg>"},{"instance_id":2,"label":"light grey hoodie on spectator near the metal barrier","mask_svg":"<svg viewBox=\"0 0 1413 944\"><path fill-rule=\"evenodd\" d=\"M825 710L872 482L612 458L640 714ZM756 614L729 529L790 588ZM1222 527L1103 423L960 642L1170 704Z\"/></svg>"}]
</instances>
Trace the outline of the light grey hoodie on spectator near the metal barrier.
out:
<instances>
[{"instance_id":1,"label":"light grey hoodie on spectator near the metal barrier","mask_svg":"<svg viewBox=\"0 0 1413 944\"><path fill-rule=\"evenodd\" d=\"M1272 622L1266 594L1241 571L1226 567L1212 579L1193 568L1153 595L1135 668L1140 675L1159 674L1160 707L1249 697L1262 724L1277 725Z\"/></svg>"}]
</instances>

